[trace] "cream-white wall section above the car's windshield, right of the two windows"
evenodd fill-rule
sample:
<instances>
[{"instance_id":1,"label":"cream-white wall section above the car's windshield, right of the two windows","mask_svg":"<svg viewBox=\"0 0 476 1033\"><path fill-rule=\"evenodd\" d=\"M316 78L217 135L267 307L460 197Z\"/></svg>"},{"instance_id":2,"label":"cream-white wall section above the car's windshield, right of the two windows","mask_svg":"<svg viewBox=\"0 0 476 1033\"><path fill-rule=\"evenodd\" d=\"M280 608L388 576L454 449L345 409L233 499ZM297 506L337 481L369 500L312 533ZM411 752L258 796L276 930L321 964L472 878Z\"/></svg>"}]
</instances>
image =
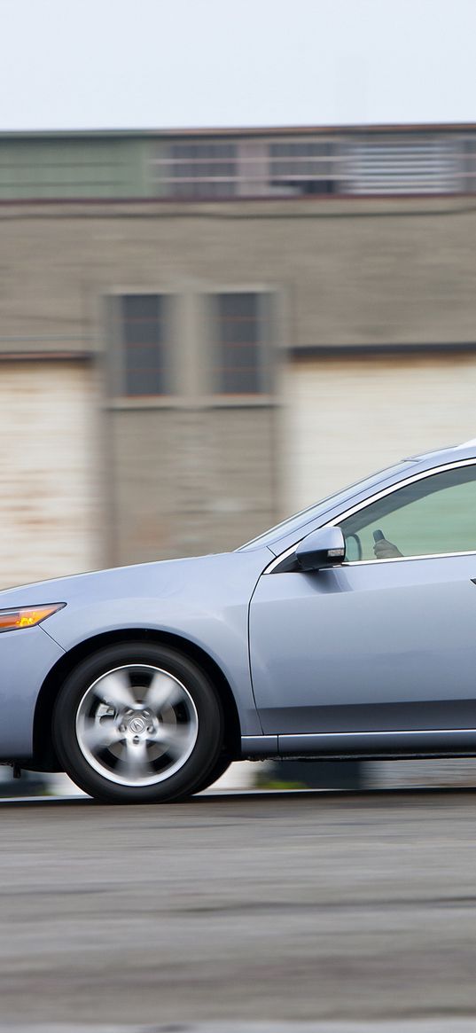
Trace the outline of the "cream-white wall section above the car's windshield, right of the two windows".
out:
<instances>
[{"instance_id":1,"label":"cream-white wall section above the car's windshield, right of the two windows","mask_svg":"<svg viewBox=\"0 0 476 1033\"><path fill-rule=\"evenodd\" d=\"M304 359L285 387L286 512L403 457L476 437L473 355Z\"/></svg>"}]
</instances>

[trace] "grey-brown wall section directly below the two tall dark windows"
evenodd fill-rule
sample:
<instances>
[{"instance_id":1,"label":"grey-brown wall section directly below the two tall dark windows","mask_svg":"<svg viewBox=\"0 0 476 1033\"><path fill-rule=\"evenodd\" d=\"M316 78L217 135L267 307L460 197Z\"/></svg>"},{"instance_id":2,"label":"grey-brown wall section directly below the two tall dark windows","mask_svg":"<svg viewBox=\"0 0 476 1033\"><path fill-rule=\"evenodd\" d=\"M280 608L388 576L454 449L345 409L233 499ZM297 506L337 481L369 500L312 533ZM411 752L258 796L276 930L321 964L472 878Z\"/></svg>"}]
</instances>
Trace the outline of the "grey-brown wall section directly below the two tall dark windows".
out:
<instances>
[{"instance_id":1,"label":"grey-brown wall section directly below the two tall dark windows","mask_svg":"<svg viewBox=\"0 0 476 1033\"><path fill-rule=\"evenodd\" d=\"M113 560L234 549L273 523L273 408L126 410L109 420Z\"/></svg>"}]
</instances>

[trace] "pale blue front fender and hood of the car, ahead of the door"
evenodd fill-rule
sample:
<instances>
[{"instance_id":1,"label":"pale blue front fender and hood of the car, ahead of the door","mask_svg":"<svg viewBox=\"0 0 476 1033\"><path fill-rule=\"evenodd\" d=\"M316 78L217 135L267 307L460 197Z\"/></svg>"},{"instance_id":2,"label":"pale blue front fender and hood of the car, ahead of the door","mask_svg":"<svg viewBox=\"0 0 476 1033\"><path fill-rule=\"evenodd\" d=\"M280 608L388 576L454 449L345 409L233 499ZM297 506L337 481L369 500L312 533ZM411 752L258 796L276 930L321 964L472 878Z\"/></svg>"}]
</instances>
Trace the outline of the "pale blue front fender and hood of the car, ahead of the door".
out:
<instances>
[{"instance_id":1,"label":"pale blue front fender and hood of the car, ahead of the door","mask_svg":"<svg viewBox=\"0 0 476 1033\"><path fill-rule=\"evenodd\" d=\"M230 685L242 734L260 734L250 678L248 609L271 560L273 554L264 546L247 554L118 567L1 592L2 609L52 601L67 605L37 628L0 634L0 756L31 754L34 707L47 670L42 662L47 649L53 665L85 639L123 629L173 633L203 649ZM21 681L15 674L20 660Z\"/></svg>"}]
</instances>

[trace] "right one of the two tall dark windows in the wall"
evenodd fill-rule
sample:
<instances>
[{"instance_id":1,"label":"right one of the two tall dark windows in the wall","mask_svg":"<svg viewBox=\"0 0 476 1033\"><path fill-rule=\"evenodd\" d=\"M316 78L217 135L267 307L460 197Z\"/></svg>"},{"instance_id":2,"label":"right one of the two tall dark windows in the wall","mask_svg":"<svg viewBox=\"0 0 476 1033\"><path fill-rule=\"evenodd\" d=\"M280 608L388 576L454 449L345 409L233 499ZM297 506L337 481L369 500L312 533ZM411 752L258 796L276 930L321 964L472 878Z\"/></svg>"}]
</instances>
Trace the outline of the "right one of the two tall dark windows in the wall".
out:
<instances>
[{"instance_id":1,"label":"right one of the two tall dark windows in the wall","mask_svg":"<svg viewBox=\"0 0 476 1033\"><path fill-rule=\"evenodd\" d=\"M268 301L268 295L259 293L218 294L215 394L269 392Z\"/></svg>"}]
</instances>

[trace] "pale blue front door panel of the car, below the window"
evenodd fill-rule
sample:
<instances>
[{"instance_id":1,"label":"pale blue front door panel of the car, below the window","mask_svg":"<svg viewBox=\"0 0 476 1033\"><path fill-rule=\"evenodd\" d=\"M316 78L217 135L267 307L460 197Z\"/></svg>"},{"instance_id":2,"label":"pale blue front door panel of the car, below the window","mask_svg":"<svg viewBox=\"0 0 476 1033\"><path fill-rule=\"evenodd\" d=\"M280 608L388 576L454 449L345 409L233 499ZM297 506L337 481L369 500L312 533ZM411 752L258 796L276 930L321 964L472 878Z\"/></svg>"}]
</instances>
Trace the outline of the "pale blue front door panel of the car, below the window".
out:
<instances>
[{"instance_id":1,"label":"pale blue front door panel of the car, below the window","mask_svg":"<svg viewBox=\"0 0 476 1033\"><path fill-rule=\"evenodd\" d=\"M263 731L476 727L472 577L476 555L261 577L250 640Z\"/></svg>"}]
</instances>

